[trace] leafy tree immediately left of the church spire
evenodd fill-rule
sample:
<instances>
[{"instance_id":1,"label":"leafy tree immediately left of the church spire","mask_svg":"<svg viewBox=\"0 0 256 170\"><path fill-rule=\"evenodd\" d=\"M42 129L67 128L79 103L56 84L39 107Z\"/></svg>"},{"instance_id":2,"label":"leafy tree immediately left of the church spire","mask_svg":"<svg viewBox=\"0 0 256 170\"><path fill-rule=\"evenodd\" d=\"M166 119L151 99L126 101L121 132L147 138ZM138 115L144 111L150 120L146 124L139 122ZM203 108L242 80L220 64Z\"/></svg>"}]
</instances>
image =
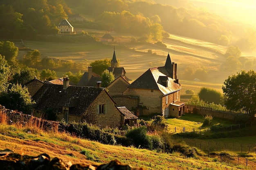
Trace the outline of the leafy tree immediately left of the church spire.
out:
<instances>
[{"instance_id":1,"label":"leafy tree immediately left of the church spire","mask_svg":"<svg viewBox=\"0 0 256 170\"><path fill-rule=\"evenodd\" d=\"M92 71L94 73L101 75L104 70L111 66L111 60L108 58L105 58L104 60L95 60L90 66L92 66Z\"/></svg>"}]
</instances>

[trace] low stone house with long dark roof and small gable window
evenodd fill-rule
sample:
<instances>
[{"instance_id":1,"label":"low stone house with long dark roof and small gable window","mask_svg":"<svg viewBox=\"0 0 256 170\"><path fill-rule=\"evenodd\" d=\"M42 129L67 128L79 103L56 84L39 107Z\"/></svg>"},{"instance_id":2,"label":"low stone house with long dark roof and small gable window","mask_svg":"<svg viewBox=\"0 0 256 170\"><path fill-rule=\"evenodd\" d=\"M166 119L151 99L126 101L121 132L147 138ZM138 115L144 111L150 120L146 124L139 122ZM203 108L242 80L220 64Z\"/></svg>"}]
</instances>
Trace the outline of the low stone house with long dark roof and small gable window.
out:
<instances>
[{"instance_id":1,"label":"low stone house with long dark roof and small gable window","mask_svg":"<svg viewBox=\"0 0 256 170\"><path fill-rule=\"evenodd\" d=\"M36 117L52 109L58 121L86 121L111 128L123 127L125 122L136 118L122 113L105 88L70 86L68 78L63 78L63 85L44 83L32 99L36 102L33 110Z\"/></svg>"}]
</instances>

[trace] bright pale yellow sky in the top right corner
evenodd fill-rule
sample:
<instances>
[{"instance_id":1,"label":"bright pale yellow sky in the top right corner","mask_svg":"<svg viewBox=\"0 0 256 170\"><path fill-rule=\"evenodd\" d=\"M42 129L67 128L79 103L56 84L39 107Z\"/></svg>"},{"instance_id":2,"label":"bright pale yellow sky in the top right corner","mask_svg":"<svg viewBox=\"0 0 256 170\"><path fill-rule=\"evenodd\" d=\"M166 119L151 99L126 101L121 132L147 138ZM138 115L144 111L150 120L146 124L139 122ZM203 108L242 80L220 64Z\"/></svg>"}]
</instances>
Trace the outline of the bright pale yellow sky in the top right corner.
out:
<instances>
[{"instance_id":1,"label":"bright pale yellow sky in the top right corner","mask_svg":"<svg viewBox=\"0 0 256 170\"><path fill-rule=\"evenodd\" d=\"M256 0L191 0L209 11L256 25Z\"/></svg>"}]
</instances>

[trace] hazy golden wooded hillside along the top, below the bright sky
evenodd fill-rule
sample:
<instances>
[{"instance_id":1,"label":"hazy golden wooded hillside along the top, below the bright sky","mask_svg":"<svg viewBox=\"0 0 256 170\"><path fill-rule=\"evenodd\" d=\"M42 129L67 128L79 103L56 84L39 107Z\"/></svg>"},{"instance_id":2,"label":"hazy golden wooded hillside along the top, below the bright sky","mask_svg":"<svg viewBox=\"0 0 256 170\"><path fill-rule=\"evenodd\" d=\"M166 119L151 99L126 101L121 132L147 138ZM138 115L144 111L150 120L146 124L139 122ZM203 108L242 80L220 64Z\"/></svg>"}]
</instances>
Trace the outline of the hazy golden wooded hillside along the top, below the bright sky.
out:
<instances>
[{"instance_id":1,"label":"hazy golden wooded hillside along the top, below the bright sky","mask_svg":"<svg viewBox=\"0 0 256 170\"><path fill-rule=\"evenodd\" d=\"M230 22L206 9L196 8L187 0L164 3L167 2L2 0L0 38L36 39L36 35L56 34L56 26L63 18L79 14L87 20L70 21L76 28L130 33L141 41L161 41L168 32L225 46L239 46L242 51L255 49L253 26Z\"/></svg>"}]
</instances>

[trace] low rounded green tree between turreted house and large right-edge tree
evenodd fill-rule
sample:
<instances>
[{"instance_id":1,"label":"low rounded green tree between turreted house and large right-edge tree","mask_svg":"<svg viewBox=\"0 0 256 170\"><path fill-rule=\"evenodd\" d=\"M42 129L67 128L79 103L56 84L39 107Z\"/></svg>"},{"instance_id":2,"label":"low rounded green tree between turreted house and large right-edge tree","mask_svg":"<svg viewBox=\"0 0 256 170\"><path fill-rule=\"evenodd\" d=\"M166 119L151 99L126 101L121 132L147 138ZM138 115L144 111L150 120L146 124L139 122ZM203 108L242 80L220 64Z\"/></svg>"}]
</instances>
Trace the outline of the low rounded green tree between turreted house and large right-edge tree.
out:
<instances>
[{"instance_id":1,"label":"low rounded green tree between turreted house and large right-edge tree","mask_svg":"<svg viewBox=\"0 0 256 170\"><path fill-rule=\"evenodd\" d=\"M208 103L220 104L223 99L223 95L220 92L207 87L202 87L198 95L200 100Z\"/></svg>"}]
</instances>

